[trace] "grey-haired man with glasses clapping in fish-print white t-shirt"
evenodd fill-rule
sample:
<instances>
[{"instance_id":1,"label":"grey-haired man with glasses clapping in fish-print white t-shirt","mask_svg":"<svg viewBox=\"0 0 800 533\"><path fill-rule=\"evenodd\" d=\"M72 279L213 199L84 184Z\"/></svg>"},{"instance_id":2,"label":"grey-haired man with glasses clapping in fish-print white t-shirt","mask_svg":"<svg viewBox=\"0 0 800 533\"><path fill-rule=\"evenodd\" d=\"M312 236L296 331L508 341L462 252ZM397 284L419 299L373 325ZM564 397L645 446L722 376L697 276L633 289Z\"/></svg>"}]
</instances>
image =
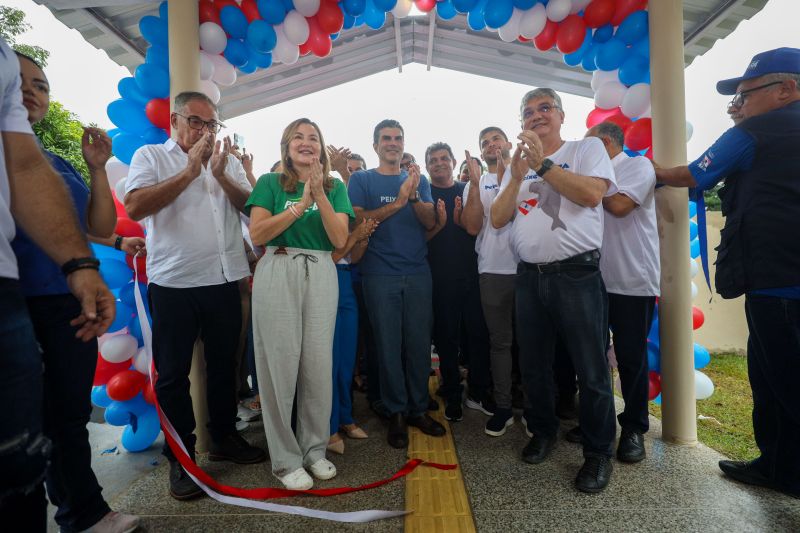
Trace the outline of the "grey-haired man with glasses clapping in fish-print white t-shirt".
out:
<instances>
[{"instance_id":1,"label":"grey-haired man with glasses clapping in fish-print white t-shirt","mask_svg":"<svg viewBox=\"0 0 800 533\"><path fill-rule=\"evenodd\" d=\"M556 337L578 374L585 462L575 479L600 492L611 478L614 399L606 363L606 290L600 276L605 196L617 192L614 170L598 139L564 141L561 98L535 89L522 99L523 131L492 203L495 228L511 226L519 258L516 281L520 370L531 402L533 437L524 461L541 463L558 431L553 384Z\"/></svg>"}]
</instances>

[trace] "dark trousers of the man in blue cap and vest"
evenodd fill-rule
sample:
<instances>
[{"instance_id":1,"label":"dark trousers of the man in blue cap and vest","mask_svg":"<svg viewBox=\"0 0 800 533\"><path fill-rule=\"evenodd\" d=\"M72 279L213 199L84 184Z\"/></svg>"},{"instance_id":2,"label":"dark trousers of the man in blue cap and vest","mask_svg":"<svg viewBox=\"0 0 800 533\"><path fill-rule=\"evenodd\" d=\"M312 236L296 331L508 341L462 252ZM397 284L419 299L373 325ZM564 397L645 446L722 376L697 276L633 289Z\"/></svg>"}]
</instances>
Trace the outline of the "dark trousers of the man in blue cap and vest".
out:
<instances>
[{"instance_id":1,"label":"dark trousers of the man in blue cap and vest","mask_svg":"<svg viewBox=\"0 0 800 533\"><path fill-rule=\"evenodd\" d=\"M748 294L747 368L753 389L756 465L800 493L800 300Z\"/></svg>"}]
</instances>

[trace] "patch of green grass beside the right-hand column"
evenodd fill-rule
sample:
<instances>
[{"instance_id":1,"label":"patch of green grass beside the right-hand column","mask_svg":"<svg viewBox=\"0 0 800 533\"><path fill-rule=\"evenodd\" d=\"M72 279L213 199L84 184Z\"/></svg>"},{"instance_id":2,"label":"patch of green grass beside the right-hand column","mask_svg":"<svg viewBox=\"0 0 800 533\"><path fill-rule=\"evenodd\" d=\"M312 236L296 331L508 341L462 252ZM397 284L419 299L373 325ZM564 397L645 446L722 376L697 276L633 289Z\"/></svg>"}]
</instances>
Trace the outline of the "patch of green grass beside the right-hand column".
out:
<instances>
[{"instance_id":1,"label":"patch of green grass beside the right-hand column","mask_svg":"<svg viewBox=\"0 0 800 533\"><path fill-rule=\"evenodd\" d=\"M716 354L702 372L714 382L714 394L697 402L697 438L731 459L758 457L753 439L753 395L747 380L747 359ZM650 414L661 418L661 407L650 403Z\"/></svg>"}]
</instances>

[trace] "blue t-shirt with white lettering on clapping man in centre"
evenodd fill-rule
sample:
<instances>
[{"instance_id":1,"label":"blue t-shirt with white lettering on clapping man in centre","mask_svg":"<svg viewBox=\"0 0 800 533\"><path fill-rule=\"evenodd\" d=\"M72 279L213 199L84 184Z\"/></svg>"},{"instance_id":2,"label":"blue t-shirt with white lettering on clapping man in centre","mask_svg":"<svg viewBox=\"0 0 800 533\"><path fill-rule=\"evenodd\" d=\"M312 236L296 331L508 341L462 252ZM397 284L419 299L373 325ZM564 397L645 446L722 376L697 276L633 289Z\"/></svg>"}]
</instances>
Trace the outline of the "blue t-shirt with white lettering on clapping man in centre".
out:
<instances>
[{"instance_id":1,"label":"blue t-shirt with white lettering on clapping man in centre","mask_svg":"<svg viewBox=\"0 0 800 533\"><path fill-rule=\"evenodd\" d=\"M408 177L406 171L399 175L385 175L372 170L360 170L350 176L347 192L353 208L374 211L395 201L400 186ZM433 203L431 186L425 176L420 176L420 200ZM404 276L424 274L429 271L426 256L425 227L417 219L411 203L380 223L369 239L369 246L359 263L361 274Z\"/></svg>"}]
</instances>

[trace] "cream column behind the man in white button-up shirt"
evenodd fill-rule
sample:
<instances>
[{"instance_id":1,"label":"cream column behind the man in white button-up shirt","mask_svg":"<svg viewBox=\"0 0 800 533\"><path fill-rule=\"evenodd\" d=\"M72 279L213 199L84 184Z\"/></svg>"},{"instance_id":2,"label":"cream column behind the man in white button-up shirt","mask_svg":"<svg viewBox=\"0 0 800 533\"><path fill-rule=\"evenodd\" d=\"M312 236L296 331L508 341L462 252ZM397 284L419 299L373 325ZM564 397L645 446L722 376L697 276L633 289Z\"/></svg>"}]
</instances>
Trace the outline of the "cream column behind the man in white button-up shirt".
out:
<instances>
[{"instance_id":1,"label":"cream column behind the man in white button-up shirt","mask_svg":"<svg viewBox=\"0 0 800 533\"><path fill-rule=\"evenodd\" d=\"M183 91L200 90L200 15L196 0L169 0L169 96L170 109L175 96ZM233 364L233 362L231 362ZM208 451L208 404L206 403L206 364L203 343L194 346L191 381L192 406L197 422L195 435L198 453Z\"/></svg>"}]
</instances>

